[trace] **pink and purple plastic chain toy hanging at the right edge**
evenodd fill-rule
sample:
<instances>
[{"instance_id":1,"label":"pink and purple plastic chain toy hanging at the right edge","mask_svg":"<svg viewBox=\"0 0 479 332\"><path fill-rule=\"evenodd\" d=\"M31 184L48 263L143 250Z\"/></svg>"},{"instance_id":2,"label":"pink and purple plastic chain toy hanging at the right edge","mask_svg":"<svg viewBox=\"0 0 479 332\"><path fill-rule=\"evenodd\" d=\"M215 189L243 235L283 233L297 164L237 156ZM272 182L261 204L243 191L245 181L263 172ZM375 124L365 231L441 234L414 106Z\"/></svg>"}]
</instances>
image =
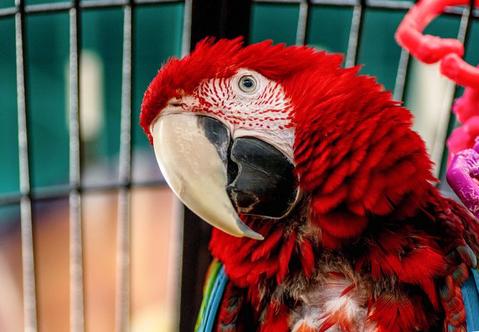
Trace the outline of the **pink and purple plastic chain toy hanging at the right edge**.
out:
<instances>
[{"instance_id":1,"label":"pink and purple plastic chain toy hanging at the right edge","mask_svg":"<svg viewBox=\"0 0 479 332\"><path fill-rule=\"evenodd\" d=\"M396 41L423 63L441 61L441 73L465 86L453 112L463 123L448 139L446 179L460 200L479 218L479 68L465 63L464 47L451 38L423 35L422 31L446 6L468 5L465 0L423 0L404 17L396 31ZM479 0L475 0L479 6Z\"/></svg>"}]
</instances>

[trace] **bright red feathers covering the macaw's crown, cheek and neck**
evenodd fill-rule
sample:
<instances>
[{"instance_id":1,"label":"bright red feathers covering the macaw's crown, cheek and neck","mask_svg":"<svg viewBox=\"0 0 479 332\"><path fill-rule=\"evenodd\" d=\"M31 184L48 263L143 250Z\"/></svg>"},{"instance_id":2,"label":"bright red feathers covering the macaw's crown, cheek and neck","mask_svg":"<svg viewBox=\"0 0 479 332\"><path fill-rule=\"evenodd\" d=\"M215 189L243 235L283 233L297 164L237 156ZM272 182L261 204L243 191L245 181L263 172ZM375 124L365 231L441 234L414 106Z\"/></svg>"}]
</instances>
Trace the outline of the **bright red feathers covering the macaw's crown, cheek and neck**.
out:
<instances>
[{"instance_id":1,"label":"bright red feathers covering the macaw's crown, cheek and neck","mask_svg":"<svg viewBox=\"0 0 479 332\"><path fill-rule=\"evenodd\" d=\"M336 247L362 234L367 215L416 213L434 180L423 141L410 130L411 113L374 78L357 76L359 67L341 63L342 55L305 46L243 47L241 38L209 38L159 70L144 95L140 124L151 139L149 126L168 100L241 68L278 82L293 107L295 173L302 191L312 194L312 220L325 245Z\"/></svg>"}]
</instances>

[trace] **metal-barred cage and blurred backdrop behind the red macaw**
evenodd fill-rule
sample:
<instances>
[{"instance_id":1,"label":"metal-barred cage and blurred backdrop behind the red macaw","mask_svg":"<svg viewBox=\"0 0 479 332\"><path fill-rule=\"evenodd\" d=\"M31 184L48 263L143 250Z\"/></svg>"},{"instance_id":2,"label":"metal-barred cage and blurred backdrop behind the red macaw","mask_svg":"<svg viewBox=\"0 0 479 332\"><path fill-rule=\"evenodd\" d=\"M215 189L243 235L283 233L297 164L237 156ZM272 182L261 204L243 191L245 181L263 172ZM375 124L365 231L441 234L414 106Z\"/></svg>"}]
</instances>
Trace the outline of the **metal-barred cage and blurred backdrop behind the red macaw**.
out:
<instances>
[{"instance_id":1,"label":"metal-barred cage and blurred backdrop behind the red macaw","mask_svg":"<svg viewBox=\"0 0 479 332\"><path fill-rule=\"evenodd\" d=\"M394 42L413 5L1 0L0 331L193 330L210 228L172 197L137 117L162 62L206 36L364 63L412 109L443 180L461 89ZM426 32L458 38L478 63L471 8L448 8Z\"/></svg>"}]
</instances>

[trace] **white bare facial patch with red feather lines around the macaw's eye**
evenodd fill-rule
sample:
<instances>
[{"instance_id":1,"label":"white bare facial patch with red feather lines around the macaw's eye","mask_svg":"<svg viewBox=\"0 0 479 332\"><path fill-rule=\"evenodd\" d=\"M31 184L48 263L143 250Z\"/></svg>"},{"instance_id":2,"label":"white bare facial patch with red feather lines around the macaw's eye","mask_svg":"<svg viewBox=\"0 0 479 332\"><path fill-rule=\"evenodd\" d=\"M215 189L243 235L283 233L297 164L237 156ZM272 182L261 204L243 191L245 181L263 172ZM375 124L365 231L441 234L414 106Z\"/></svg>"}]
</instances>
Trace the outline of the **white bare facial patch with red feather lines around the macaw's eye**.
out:
<instances>
[{"instance_id":1,"label":"white bare facial patch with red feather lines around the macaw's eye","mask_svg":"<svg viewBox=\"0 0 479 332\"><path fill-rule=\"evenodd\" d=\"M185 109L219 119L230 129L233 139L256 137L275 146L293 162L293 107L278 82L241 69L232 77L202 82L194 95L182 102Z\"/></svg>"}]
</instances>

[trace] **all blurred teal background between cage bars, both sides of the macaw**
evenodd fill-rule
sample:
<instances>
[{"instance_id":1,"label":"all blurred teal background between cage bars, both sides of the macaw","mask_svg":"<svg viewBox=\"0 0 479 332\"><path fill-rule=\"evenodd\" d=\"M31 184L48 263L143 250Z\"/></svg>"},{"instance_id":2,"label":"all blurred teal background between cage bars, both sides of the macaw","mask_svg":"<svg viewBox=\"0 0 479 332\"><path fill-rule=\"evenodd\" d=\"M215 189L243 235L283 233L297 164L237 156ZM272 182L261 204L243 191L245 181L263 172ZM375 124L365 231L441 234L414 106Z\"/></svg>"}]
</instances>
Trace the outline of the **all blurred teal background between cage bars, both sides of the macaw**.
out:
<instances>
[{"instance_id":1,"label":"all blurred teal background between cage bars, both sides of the macaw","mask_svg":"<svg viewBox=\"0 0 479 332\"><path fill-rule=\"evenodd\" d=\"M88 0L87 0L88 1ZM28 0L27 4L46 1ZM0 0L0 7L13 0ZM254 4L251 42L273 39L295 43L299 7ZM364 15L359 63L361 73L378 77L386 90L394 88L401 49L394 32L404 12L368 9ZM169 56L179 56L183 4L139 7L135 11L135 66L133 73L133 144L140 156L149 143L137 125L142 95ZM330 52L345 53L352 9L315 6L310 15L307 43ZM97 170L100 182L117 179L120 142L122 70L122 9L85 10L81 14L83 69L90 88L83 93L85 114L84 172ZM436 19L426 33L456 38L460 18ZM14 18L0 19L0 195L19 191L16 129ZM28 105L33 188L68 183L68 13L35 14L26 19ZM479 23L473 24L466 60L479 61ZM476 43L477 44L477 43ZM87 56L88 55L88 56ZM406 91L406 106L408 91ZM89 108L88 108L89 107ZM88 109L87 109L88 108ZM89 120L88 120L89 119ZM89 122L88 122L88 121ZM87 128L88 127L88 128ZM148 150L149 151L149 150ZM138 158L134 158L134 165ZM135 172L134 172L135 173Z\"/></svg>"}]
</instances>

